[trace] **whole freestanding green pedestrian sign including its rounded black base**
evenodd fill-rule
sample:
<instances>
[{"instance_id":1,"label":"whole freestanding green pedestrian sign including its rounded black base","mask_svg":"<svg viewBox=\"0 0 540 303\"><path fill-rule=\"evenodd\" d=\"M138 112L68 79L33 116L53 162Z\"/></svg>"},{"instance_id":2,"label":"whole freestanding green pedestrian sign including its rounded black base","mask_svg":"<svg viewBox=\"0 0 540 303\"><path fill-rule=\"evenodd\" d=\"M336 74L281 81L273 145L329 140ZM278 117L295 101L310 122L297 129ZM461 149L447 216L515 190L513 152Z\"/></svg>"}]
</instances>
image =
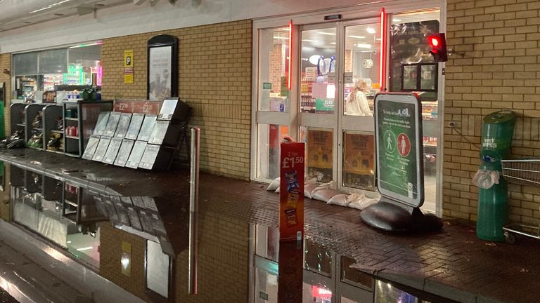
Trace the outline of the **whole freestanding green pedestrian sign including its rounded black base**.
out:
<instances>
[{"instance_id":1,"label":"whole freestanding green pedestrian sign including its rounded black base","mask_svg":"<svg viewBox=\"0 0 540 303\"><path fill-rule=\"evenodd\" d=\"M385 231L435 231L442 222L420 210L424 203L422 105L414 93L375 95L378 203L360 213Z\"/></svg>"}]
</instances>

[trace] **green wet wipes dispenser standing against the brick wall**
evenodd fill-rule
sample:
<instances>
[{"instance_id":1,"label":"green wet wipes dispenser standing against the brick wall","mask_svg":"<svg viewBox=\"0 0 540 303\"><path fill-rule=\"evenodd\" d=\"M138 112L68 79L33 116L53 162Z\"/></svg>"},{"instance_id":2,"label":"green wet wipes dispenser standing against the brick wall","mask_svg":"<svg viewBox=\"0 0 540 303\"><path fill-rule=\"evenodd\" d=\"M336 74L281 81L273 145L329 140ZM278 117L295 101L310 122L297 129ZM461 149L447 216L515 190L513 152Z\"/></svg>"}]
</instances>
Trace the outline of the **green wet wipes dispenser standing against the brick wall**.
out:
<instances>
[{"instance_id":1,"label":"green wet wipes dispenser standing against the brick wall","mask_svg":"<svg viewBox=\"0 0 540 303\"><path fill-rule=\"evenodd\" d=\"M510 154L514 133L515 113L494 112L484 117L480 170L499 172L499 184L478 190L476 236L486 241L503 241L503 226L508 220L508 189L502 177L501 159Z\"/></svg>"}]
</instances>

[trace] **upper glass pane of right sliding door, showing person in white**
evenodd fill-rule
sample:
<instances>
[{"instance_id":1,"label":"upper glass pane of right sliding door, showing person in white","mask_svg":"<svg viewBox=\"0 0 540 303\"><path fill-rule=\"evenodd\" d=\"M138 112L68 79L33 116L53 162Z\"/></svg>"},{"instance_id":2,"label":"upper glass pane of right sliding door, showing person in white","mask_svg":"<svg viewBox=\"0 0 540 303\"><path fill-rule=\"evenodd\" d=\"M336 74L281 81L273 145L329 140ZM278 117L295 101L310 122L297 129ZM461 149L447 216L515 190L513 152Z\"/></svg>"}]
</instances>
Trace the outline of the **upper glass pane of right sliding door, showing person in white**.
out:
<instances>
[{"instance_id":1,"label":"upper glass pane of right sliding door, showing person in white","mask_svg":"<svg viewBox=\"0 0 540 303\"><path fill-rule=\"evenodd\" d=\"M345 27L344 114L373 116L373 97L380 88L380 25Z\"/></svg>"}]
</instances>

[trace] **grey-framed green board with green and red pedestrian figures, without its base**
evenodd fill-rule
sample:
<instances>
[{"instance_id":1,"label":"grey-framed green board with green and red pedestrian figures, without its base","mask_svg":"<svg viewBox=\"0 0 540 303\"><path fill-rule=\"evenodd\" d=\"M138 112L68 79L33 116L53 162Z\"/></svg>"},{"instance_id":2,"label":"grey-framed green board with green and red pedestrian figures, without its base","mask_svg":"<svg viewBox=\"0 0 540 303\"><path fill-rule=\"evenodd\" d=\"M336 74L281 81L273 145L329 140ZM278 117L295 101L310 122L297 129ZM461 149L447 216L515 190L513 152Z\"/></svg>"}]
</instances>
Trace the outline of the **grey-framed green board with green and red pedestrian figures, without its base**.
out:
<instances>
[{"instance_id":1,"label":"grey-framed green board with green and red pedestrian figures, without its base","mask_svg":"<svg viewBox=\"0 0 540 303\"><path fill-rule=\"evenodd\" d=\"M375 96L378 189L412 207L424 196L421 108L413 93Z\"/></svg>"}]
</instances>

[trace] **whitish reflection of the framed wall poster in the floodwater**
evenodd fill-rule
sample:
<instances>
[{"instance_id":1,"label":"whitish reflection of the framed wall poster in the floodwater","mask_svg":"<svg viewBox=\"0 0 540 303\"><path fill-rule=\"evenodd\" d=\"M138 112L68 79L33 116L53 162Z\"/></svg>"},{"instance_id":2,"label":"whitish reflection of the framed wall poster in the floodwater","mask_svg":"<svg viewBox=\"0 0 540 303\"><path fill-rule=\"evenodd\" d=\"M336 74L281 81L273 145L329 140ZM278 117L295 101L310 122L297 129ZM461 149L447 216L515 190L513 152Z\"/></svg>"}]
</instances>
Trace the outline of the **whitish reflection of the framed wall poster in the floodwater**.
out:
<instances>
[{"instance_id":1,"label":"whitish reflection of the framed wall poster in the floodwater","mask_svg":"<svg viewBox=\"0 0 540 303\"><path fill-rule=\"evenodd\" d=\"M146 287L163 297L169 296L169 262L159 243L146 241Z\"/></svg>"}]
</instances>

